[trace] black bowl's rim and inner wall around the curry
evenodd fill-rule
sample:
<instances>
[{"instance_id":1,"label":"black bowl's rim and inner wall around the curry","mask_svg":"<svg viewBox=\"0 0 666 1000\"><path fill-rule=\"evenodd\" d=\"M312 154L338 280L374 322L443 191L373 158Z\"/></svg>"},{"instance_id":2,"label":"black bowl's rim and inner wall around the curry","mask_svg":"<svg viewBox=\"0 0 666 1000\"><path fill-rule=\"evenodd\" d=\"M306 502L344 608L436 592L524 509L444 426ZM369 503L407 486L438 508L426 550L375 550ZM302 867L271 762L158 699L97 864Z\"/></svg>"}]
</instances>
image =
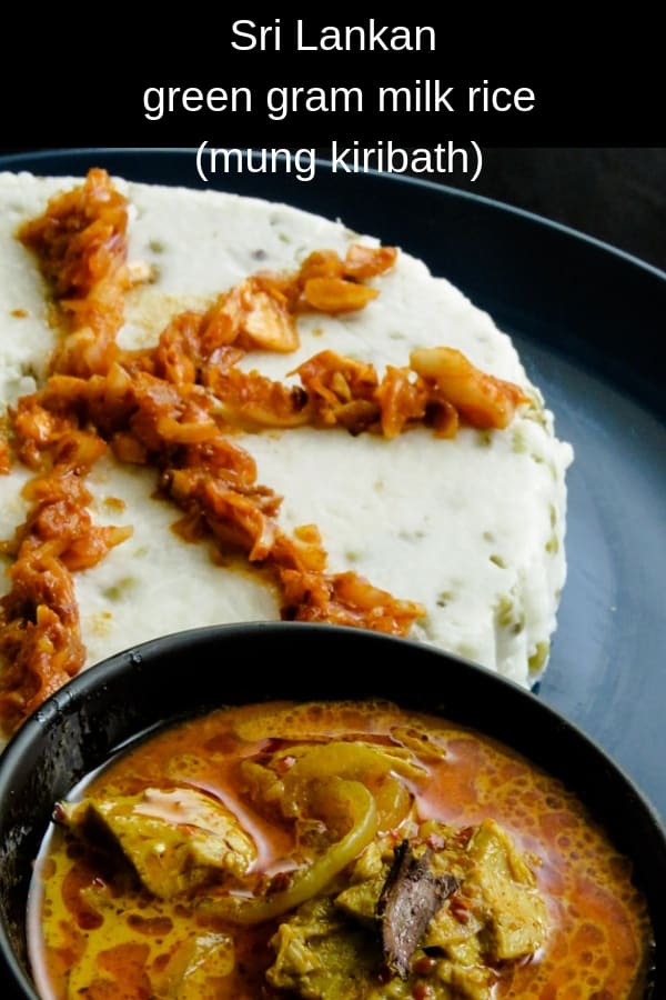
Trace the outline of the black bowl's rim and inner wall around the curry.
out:
<instances>
[{"instance_id":1,"label":"black bowl's rim and inner wall around the curry","mask_svg":"<svg viewBox=\"0 0 666 1000\"><path fill-rule=\"evenodd\" d=\"M273 699L382 698L502 740L561 778L634 862L655 930L652 997L666 997L666 834L604 751L539 699L460 658L336 626L195 629L111 657L70 681L0 756L0 996L38 1000L26 909L53 802L122 743L169 720Z\"/></svg>"}]
</instances>

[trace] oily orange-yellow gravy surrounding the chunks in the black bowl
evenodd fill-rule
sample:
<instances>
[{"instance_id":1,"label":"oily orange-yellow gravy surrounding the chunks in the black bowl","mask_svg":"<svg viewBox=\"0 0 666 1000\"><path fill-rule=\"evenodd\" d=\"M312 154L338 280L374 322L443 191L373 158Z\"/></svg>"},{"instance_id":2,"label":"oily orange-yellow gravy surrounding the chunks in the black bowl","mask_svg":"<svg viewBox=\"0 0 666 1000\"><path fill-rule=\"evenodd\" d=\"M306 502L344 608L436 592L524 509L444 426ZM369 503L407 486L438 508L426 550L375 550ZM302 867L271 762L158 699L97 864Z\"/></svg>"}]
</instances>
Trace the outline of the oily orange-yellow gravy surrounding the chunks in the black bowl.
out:
<instances>
[{"instance_id":1,"label":"oily orange-yellow gravy surrounding the chunks in the black bowl","mask_svg":"<svg viewBox=\"0 0 666 1000\"><path fill-rule=\"evenodd\" d=\"M284 860L294 850L294 839L290 824L276 812L271 816L253 808L239 786L240 762L261 760L292 742L333 740L407 746L426 773L424 781L405 779L420 821L436 819L464 831L491 817L529 859L545 900L547 933L528 959L500 963L493 973L493 998L643 996L650 926L628 860L558 780L497 742L446 720L406 713L387 703L281 702L221 709L137 744L87 783L83 794L134 796L145 788L193 788L221 800L254 840L251 889L258 891L261 874L256 872L263 872L265 881L266 873L294 868L293 861ZM282 759L289 767L289 752ZM47 839L29 913L33 974L44 998L302 996L265 980L275 957L270 942L278 920L231 928L219 916L198 908L191 893L155 898L115 864L105 849L89 847L68 829L57 827ZM278 874L272 891L280 891L287 881L289 876ZM110 922L121 928L104 937ZM169 976L183 936L191 934L193 927L196 933L219 934L220 940L231 934L233 948L213 964L204 984L199 981L189 989L184 980L173 986ZM99 974L92 980L77 978L72 970L81 963ZM397 989L372 996L415 1000L448 996L432 992L424 982L412 992ZM458 996L471 994L451 992Z\"/></svg>"}]
</instances>

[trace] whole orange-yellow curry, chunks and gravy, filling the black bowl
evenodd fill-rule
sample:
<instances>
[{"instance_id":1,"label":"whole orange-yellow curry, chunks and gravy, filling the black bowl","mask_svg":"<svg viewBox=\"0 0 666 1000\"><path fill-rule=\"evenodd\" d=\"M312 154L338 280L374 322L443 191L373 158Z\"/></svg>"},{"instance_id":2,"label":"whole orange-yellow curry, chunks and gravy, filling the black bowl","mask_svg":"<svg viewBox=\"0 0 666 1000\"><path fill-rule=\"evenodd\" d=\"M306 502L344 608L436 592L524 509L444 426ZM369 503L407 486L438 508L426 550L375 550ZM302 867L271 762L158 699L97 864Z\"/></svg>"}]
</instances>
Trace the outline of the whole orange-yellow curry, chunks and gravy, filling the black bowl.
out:
<instances>
[{"instance_id":1,"label":"whole orange-yellow curry, chunks and gravy, filling the black bowl","mask_svg":"<svg viewBox=\"0 0 666 1000\"><path fill-rule=\"evenodd\" d=\"M57 804L44 998L643 996L650 927L562 784L386 703L221 709Z\"/></svg>"}]
</instances>

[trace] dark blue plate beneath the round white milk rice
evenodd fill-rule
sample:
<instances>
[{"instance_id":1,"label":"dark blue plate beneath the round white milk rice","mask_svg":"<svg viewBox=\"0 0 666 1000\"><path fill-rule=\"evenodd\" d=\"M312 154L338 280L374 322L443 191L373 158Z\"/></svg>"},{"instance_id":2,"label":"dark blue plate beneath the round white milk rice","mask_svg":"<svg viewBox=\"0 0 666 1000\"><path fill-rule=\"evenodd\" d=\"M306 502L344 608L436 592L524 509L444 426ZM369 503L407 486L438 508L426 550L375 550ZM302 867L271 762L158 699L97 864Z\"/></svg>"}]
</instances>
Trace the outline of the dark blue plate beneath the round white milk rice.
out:
<instances>
[{"instance_id":1,"label":"dark blue plate beneath the round white milk rice","mask_svg":"<svg viewBox=\"0 0 666 1000\"><path fill-rule=\"evenodd\" d=\"M0 169L203 187L191 150L67 150ZM539 697L666 816L666 274L547 220L427 182L219 177L218 188L341 218L450 278L511 333L575 448L564 590Z\"/></svg>"}]
</instances>

